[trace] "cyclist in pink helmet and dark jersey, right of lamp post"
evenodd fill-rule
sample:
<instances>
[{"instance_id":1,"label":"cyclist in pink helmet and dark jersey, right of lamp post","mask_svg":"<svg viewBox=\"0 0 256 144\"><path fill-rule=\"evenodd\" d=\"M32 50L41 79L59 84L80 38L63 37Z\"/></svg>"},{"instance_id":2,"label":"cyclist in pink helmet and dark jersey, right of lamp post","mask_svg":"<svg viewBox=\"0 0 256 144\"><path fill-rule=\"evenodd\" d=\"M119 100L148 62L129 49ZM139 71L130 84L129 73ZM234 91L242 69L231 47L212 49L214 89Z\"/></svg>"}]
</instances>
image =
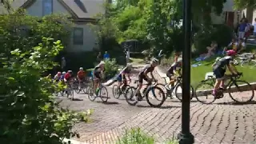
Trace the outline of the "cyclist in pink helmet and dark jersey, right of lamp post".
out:
<instances>
[{"instance_id":1,"label":"cyclist in pink helmet and dark jersey, right of lamp post","mask_svg":"<svg viewBox=\"0 0 256 144\"><path fill-rule=\"evenodd\" d=\"M224 88L224 75L226 73L226 67L230 70L231 74L241 74L238 73L238 70L234 66L234 56L236 55L236 52L234 50L227 50L226 51L226 57L221 58L218 60L218 62L215 63L213 66L213 72L216 77L216 82L214 85L213 95L215 96L216 91Z\"/></svg>"}]
</instances>

